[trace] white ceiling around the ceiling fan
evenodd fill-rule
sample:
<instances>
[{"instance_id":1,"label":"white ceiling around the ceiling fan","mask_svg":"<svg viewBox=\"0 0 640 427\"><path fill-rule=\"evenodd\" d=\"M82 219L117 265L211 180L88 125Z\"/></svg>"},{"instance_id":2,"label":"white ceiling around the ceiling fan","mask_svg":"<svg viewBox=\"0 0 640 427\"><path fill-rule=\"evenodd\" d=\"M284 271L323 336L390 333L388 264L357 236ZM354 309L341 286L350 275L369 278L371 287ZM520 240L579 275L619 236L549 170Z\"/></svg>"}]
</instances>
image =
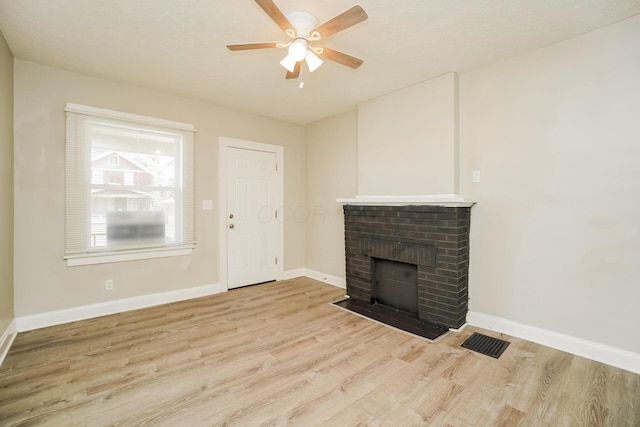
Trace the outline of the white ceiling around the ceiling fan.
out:
<instances>
[{"instance_id":1,"label":"white ceiling around the ceiling fan","mask_svg":"<svg viewBox=\"0 0 640 427\"><path fill-rule=\"evenodd\" d=\"M305 124L420 81L464 72L640 13L640 0L275 0L324 22L355 4L369 19L322 43L364 59L285 80L286 41L253 0L2 0L17 58Z\"/></svg>"}]
</instances>

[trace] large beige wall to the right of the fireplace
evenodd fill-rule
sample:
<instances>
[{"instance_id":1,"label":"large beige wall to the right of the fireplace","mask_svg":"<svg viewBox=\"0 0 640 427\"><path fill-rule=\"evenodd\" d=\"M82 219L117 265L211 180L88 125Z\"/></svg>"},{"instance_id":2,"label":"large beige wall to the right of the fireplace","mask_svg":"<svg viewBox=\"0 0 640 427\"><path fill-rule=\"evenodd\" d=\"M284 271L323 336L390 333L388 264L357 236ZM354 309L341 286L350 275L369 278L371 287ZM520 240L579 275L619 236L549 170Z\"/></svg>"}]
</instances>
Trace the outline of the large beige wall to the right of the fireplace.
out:
<instances>
[{"instance_id":1,"label":"large beige wall to the right of the fireplace","mask_svg":"<svg viewBox=\"0 0 640 427\"><path fill-rule=\"evenodd\" d=\"M471 310L640 353L639 43L636 16L461 75Z\"/></svg>"}]
</instances>

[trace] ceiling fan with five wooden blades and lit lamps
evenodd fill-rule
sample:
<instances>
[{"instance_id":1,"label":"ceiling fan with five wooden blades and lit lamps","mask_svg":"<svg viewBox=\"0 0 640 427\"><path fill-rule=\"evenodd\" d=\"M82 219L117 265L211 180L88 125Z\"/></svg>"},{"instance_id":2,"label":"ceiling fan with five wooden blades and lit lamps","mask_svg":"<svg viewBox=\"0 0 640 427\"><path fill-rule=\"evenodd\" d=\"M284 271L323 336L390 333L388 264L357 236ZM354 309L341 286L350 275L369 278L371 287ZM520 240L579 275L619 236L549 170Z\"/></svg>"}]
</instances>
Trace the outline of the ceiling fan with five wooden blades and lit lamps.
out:
<instances>
[{"instance_id":1,"label":"ceiling fan with five wooden blades and lit lamps","mask_svg":"<svg viewBox=\"0 0 640 427\"><path fill-rule=\"evenodd\" d=\"M324 41L329 36L366 20L367 13L361 6L353 6L324 24L318 25L318 18L310 13L292 12L285 16L272 0L256 0L256 3L282 28L289 37L289 41L231 44L227 45L229 50L286 47L288 48L287 56L280 61L280 64L287 69L287 79L295 79L300 75L302 60L305 60L311 72L322 65L323 61L320 58L329 59L354 69L362 65L362 59L316 45L316 42Z\"/></svg>"}]
</instances>

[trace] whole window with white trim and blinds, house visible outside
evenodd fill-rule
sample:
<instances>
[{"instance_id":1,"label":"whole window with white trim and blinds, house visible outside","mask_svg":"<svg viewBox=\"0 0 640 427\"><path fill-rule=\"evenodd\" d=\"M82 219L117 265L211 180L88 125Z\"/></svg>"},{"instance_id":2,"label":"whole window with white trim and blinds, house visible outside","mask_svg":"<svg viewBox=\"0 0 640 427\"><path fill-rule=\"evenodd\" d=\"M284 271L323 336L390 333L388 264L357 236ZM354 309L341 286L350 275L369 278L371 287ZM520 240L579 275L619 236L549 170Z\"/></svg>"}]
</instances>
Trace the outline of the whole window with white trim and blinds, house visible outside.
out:
<instances>
[{"instance_id":1,"label":"whole window with white trim and blinds, house visible outside","mask_svg":"<svg viewBox=\"0 0 640 427\"><path fill-rule=\"evenodd\" d=\"M65 258L191 253L192 125L67 104Z\"/></svg>"}]
</instances>

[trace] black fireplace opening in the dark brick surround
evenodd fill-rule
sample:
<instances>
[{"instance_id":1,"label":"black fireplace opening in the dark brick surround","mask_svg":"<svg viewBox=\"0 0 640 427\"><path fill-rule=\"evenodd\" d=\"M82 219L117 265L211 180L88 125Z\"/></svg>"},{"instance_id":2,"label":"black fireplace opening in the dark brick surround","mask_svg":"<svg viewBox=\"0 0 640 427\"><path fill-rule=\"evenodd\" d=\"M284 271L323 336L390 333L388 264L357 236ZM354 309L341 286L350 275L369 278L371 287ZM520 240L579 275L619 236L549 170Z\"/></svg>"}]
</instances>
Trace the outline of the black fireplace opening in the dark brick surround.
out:
<instances>
[{"instance_id":1,"label":"black fireplace opening in the dark brick surround","mask_svg":"<svg viewBox=\"0 0 640 427\"><path fill-rule=\"evenodd\" d=\"M418 318L418 266L380 258L373 261L371 302Z\"/></svg>"}]
</instances>

